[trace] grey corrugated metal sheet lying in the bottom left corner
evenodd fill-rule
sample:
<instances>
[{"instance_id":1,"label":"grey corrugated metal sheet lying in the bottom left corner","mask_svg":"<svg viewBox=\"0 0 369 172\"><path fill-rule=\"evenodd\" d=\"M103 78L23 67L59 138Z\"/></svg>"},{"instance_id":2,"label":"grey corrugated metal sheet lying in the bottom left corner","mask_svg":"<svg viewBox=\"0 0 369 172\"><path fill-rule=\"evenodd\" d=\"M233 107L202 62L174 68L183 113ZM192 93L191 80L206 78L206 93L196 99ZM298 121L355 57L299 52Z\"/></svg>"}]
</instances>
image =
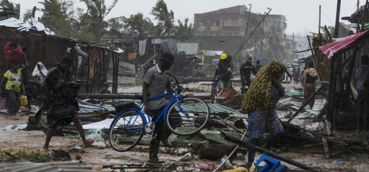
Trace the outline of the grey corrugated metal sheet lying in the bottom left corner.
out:
<instances>
[{"instance_id":1,"label":"grey corrugated metal sheet lying in the bottom left corner","mask_svg":"<svg viewBox=\"0 0 369 172\"><path fill-rule=\"evenodd\" d=\"M1 171L6 172L93 172L91 166L85 162L63 163L33 163L25 160L12 159L0 161Z\"/></svg>"}]
</instances>

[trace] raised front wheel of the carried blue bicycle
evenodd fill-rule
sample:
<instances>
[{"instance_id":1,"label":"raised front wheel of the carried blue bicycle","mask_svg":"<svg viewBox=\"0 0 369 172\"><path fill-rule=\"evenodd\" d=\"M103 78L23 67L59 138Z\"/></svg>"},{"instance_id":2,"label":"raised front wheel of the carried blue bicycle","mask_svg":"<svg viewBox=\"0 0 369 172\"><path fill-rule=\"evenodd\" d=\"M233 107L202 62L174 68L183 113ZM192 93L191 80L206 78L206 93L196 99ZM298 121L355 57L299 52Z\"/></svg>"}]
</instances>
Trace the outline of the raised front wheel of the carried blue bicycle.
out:
<instances>
[{"instance_id":1,"label":"raised front wheel of the carried blue bicycle","mask_svg":"<svg viewBox=\"0 0 369 172\"><path fill-rule=\"evenodd\" d=\"M166 123L179 136L200 132L210 119L208 104L197 97L185 97L173 102L168 108Z\"/></svg>"}]
</instances>

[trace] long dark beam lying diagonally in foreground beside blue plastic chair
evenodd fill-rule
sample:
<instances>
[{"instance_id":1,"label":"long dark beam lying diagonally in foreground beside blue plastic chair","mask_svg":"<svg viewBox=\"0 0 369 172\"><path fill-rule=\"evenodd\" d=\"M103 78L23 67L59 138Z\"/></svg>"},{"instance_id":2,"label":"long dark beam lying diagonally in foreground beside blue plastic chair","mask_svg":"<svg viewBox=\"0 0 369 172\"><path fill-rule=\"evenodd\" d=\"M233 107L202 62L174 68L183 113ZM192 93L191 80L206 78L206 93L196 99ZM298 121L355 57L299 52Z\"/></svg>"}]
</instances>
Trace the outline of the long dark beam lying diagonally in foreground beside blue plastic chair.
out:
<instances>
[{"instance_id":1,"label":"long dark beam lying diagonally in foreground beside blue plastic chair","mask_svg":"<svg viewBox=\"0 0 369 172\"><path fill-rule=\"evenodd\" d=\"M270 157L273 157L273 158L276 158L278 160L287 162L287 163L289 163L291 165L297 166L297 167L299 167L301 169L304 169L304 170L310 170L310 171L318 172L318 170L316 170L316 169L314 169L314 168L312 168L310 166L306 166L306 165L304 165L304 164L302 164L300 162L296 162L296 161L293 161L293 160L291 160L289 158L282 157L282 156L280 156L280 155L278 155L276 153L273 153L273 152L271 152L269 150L266 150L266 149L264 149L262 147L255 146L255 145L253 145L253 144L251 144L251 143L249 143L247 141L239 140L236 137L233 137L231 135L228 135L227 133L222 132L222 134L225 135L225 138L224 138L225 140L230 141L232 143L239 144L241 147L251 148L251 149L254 149L255 151L257 151L259 153L265 153L266 155L268 155Z\"/></svg>"}]
</instances>

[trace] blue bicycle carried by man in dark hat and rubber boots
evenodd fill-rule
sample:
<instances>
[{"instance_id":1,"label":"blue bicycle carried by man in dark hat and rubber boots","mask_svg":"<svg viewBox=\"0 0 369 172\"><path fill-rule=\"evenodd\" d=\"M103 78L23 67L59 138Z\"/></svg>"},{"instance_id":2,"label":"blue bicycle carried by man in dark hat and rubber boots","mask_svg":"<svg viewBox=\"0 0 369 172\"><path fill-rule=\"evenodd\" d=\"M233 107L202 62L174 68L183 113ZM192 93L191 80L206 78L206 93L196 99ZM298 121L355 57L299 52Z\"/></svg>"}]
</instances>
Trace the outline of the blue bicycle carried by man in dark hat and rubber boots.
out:
<instances>
[{"instance_id":1,"label":"blue bicycle carried by man in dark hat and rubber boots","mask_svg":"<svg viewBox=\"0 0 369 172\"><path fill-rule=\"evenodd\" d=\"M197 97L188 97L181 94L183 87L177 78L176 88L169 93L149 98L149 100L173 95L168 105L156 119L151 121L149 115L141 110L144 108L142 95L135 95L141 102L135 107L124 110L115 116L109 129L109 142L111 147L118 152L131 150L139 143L144 134L150 134L159 120L164 120L168 128L176 135L189 136L200 132L210 119L208 104Z\"/></svg>"}]
</instances>

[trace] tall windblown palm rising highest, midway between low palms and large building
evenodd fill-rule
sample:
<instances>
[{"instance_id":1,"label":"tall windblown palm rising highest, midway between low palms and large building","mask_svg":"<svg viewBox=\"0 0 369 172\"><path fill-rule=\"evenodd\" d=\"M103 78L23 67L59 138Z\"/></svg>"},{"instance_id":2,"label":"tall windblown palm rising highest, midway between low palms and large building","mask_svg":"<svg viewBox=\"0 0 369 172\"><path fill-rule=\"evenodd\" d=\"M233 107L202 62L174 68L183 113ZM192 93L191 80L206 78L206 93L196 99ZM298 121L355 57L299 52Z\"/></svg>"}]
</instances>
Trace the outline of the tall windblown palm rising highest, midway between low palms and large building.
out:
<instances>
[{"instance_id":1,"label":"tall windblown palm rising highest, midway between low palms and large building","mask_svg":"<svg viewBox=\"0 0 369 172\"><path fill-rule=\"evenodd\" d=\"M156 20L158 20L158 27L164 32L163 35L169 36L170 29L172 29L174 24L174 12L172 10L168 11L166 3L164 0L158 0L150 12L154 15Z\"/></svg>"}]
</instances>

